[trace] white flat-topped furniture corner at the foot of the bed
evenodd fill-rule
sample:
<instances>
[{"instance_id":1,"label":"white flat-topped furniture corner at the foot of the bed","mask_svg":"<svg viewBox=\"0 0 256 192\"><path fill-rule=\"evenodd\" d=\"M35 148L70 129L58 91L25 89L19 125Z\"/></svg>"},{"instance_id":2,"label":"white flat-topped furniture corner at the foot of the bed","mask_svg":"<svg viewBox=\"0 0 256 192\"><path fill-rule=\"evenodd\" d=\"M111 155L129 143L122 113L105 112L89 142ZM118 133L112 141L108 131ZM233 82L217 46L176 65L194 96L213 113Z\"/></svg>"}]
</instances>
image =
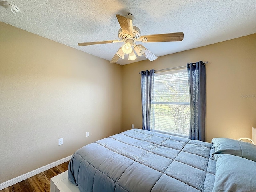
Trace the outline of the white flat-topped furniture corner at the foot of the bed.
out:
<instances>
[{"instance_id":1,"label":"white flat-topped furniture corner at the foot of the bed","mask_svg":"<svg viewBox=\"0 0 256 192\"><path fill-rule=\"evenodd\" d=\"M51 178L51 192L80 192L80 190L68 180L68 171L65 171Z\"/></svg>"}]
</instances>

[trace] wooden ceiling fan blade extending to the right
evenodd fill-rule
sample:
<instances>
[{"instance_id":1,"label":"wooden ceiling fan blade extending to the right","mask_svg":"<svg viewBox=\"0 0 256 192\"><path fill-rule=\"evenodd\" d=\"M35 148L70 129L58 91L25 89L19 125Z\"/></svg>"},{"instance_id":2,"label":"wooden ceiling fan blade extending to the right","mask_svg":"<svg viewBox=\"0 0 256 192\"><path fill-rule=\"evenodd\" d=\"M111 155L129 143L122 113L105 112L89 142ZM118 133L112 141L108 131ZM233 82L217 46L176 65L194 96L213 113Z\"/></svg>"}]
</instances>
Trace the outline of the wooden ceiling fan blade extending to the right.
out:
<instances>
[{"instance_id":1,"label":"wooden ceiling fan blade extending to the right","mask_svg":"<svg viewBox=\"0 0 256 192\"><path fill-rule=\"evenodd\" d=\"M141 42L168 42L168 41L182 41L184 34L182 32L178 33L165 33L156 35L144 35L141 36L136 41Z\"/></svg>"}]
</instances>

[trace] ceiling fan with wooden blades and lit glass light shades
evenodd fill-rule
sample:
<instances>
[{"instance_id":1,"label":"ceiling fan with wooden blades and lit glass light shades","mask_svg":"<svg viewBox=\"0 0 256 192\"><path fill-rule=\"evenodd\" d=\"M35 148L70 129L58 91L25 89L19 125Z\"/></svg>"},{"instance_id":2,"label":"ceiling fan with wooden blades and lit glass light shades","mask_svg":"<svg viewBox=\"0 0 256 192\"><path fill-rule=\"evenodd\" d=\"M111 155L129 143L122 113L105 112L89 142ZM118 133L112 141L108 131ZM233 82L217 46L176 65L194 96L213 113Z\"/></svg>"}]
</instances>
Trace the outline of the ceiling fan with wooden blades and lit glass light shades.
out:
<instances>
[{"instance_id":1,"label":"ceiling fan with wooden blades and lit glass light shades","mask_svg":"<svg viewBox=\"0 0 256 192\"><path fill-rule=\"evenodd\" d=\"M135 42L170 42L170 41L182 41L183 32L178 33L166 33L166 34L155 34L155 35L144 35L141 36L140 29L132 25L132 22L135 20L134 16L130 13L125 16L116 15L117 20L121 26L118 31L118 37L120 40L110 40L110 41L96 41L96 42L86 42L78 43L79 46L86 45L96 45L96 44L106 44L106 43L118 43L124 42L125 44L118 49L110 63L115 63L119 58L124 58L125 54L129 54L128 60L135 60L137 56L144 56L148 60L153 61L157 59L157 56L152 54L147 48L143 45L136 45ZM136 56L136 54L137 56Z\"/></svg>"}]
</instances>

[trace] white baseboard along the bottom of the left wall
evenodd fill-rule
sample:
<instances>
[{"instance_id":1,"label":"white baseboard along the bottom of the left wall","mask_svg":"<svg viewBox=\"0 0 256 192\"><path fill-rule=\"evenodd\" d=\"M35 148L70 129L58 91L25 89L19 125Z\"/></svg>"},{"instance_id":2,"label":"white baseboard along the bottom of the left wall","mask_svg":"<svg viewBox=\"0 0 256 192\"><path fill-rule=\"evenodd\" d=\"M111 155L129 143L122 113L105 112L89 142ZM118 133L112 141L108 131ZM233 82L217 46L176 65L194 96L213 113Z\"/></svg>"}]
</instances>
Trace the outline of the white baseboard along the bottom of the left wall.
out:
<instances>
[{"instance_id":1,"label":"white baseboard along the bottom of the left wall","mask_svg":"<svg viewBox=\"0 0 256 192\"><path fill-rule=\"evenodd\" d=\"M70 155L68 157L65 157L63 159L60 159L58 161L55 161L53 163L50 163L50 164L48 164L46 166L40 167L40 168L38 168L36 170L30 171L28 173L25 173L25 174L23 174L21 176L18 176L16 178L13 178L13 179L8 180L6 182L0 183L0 190L4 189L6 187L12 186L12 185L14 185L14 184L16 184L18 182L21 182L21 181L23 181L23 180L25 180L27 178L30 178L30 177L38 174L38 173L44 172L44 171L46 171L46 170L48 170L50 168L58 166L58 165L60 165L60 164L62 164L64 162L67 162L67 161L69 161L71 159L71 157L72 157L72 155Z\"/></svg>"}]
</instances>

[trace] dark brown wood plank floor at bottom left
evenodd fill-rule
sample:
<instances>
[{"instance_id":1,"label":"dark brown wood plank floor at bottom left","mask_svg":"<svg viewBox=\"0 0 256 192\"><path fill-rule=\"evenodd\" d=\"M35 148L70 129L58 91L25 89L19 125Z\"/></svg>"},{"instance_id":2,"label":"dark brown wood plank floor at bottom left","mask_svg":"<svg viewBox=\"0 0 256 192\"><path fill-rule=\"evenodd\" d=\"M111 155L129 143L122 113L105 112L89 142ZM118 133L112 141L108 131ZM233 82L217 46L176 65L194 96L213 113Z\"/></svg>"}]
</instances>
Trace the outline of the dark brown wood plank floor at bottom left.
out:
<instances>
[{"instance_id":1,"label":"dark brown wood plank floor at bottom left","mask_svg":"<svg viewBox=\"0 0 256 192\"><path fill-rule=\"evenodd\" d=\"M48 169L24 181L0 190L0 192L50 192L50 179L68 170L68 162Z\"/></svg>"}]
</instances>

